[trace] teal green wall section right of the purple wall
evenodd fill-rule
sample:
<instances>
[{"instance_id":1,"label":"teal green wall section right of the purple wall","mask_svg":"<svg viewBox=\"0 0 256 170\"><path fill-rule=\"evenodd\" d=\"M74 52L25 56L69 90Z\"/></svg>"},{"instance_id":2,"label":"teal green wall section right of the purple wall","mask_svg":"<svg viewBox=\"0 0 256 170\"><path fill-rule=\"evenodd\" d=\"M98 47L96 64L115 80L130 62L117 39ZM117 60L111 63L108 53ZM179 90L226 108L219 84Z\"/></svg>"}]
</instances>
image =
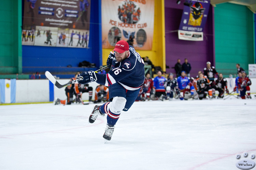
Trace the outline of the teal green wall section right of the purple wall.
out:
<instances>
[{"instance_id":1,"label":"teal green wall section right of the purple wall","mask_svg":"<svg viewBox=\"0 0 256 170\"><path fill-rule=\"evenodd\" d=\"M254 63L253 13L243 5L218 4L214 8L215 66L225 74L237 74L239 63L248 73Z\"/></svg>"}]
</instances>

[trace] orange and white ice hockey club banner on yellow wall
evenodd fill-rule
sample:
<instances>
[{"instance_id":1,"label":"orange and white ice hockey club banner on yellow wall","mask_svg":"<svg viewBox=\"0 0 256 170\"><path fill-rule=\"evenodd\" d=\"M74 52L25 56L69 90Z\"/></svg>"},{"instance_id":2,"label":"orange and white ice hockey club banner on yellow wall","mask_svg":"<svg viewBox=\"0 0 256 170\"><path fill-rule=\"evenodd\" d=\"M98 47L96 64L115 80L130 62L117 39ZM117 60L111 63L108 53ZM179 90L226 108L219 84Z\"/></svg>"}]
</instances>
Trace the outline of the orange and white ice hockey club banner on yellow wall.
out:
<instances>
[{"instance_id":1,"label":"orange and white ice hockey club banner on yellow wall","mask_svg":"<svg viewBox=\"0 0 256 170\"><path fill-rule=\"evenodd\" d=\"M154 0L101 0L102 48L126 40L139 50L151 50L154 34Z\"/></svg>"}]
</instances>

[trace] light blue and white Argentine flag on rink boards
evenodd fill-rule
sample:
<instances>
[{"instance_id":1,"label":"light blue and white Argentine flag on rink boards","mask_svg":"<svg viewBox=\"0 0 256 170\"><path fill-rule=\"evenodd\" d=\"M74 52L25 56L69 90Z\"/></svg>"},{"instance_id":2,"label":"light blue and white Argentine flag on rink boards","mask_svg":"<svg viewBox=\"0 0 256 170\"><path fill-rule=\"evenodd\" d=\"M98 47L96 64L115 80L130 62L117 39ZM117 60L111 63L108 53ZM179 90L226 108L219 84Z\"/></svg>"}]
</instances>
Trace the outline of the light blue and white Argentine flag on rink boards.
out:
<instances>
[{"instance_id":1,"label":"light blue and white Argentine flag on rink boards","mask_svg":"<svg viewBox=\"0 0 256 170\"><path fill-rule=\"evenodd\" d=\"M16 79L0 79L1 103L16 102Z\"/></svg>"}]
</instances>

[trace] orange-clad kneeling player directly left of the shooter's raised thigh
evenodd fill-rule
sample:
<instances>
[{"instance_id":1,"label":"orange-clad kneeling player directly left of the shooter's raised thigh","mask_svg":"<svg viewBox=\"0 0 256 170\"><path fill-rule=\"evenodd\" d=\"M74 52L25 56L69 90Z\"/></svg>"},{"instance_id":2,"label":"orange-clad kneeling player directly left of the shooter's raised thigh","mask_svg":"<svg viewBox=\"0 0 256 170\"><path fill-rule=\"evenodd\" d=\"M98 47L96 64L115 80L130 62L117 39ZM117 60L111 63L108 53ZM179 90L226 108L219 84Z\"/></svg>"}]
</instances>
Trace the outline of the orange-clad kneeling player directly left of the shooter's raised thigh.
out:
<instances>
[{"instance_id":1,"label":"orange-clad kneeling player directly left of the shooter's raised thigh","mask_svg":"<svg viewBox=\"0 0 256 170\"><path fill-rule=\"evenodd\" d=\"M100 84L95 90L94 103L106 102L109 100L109 88Z\"/></svg>"}]
</instances>

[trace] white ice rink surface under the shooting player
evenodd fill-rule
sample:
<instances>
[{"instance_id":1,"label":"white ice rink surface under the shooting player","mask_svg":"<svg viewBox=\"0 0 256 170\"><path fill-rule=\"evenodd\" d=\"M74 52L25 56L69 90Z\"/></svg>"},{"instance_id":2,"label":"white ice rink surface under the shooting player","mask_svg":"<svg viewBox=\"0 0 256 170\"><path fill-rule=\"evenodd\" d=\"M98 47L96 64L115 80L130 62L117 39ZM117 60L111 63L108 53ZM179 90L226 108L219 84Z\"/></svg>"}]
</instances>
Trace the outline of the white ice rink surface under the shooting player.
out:
<instances>
[{"instance_id":1,"label":"white ice rink surface under the shooting player","mask_svg":"<svg viewBox=\"0 0 256 170\"><path fill-rule=\"evenodd\" d=\"M0 169L238 170L256 154L256 99L135 102L105 144L93 106L0 106Z\"/></svg>"}]
</instances>

